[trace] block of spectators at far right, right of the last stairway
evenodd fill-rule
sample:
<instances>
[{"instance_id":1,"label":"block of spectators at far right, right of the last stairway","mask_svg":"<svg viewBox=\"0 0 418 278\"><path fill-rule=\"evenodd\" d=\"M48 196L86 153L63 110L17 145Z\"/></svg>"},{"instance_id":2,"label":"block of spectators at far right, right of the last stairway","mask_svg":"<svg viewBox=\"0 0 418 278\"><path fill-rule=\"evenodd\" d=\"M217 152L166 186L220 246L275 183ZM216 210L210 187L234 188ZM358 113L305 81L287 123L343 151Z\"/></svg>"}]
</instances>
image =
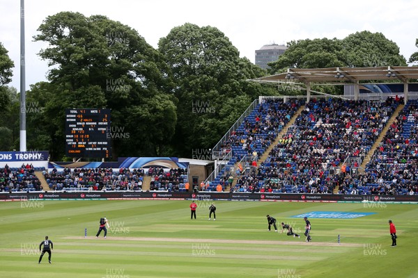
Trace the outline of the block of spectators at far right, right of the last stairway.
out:
<instances>
[{"instance_id":1,"label":"block of spectators at far right, right of the last stairway","mask_svg":"<svg viewBox=\"0 0 418 278\"><path fill-rule=\"evenodd\" d=\"M360 193L418 194L417 142L418 101L410 100L366 165Z\"/></svg>"}]
</instances>

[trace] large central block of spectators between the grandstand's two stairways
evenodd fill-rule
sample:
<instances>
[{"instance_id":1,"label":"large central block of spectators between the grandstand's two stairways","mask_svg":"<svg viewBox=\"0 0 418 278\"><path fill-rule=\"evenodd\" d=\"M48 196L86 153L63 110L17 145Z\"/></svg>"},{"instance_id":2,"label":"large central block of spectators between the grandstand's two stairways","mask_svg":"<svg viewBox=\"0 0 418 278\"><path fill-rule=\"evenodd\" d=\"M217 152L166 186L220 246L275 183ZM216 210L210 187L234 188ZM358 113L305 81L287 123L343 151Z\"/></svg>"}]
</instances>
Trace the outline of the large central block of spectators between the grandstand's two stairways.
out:
<instances>
[{"instance_id":1,"label":"large central block of spectators between the grandstand's two stairways","mask_svg":"<svg viewBox=\"0 0 418 278\"><path fill-rule=\"evenodd\" d=\"M337 186L340 193L353 192L353 169L401 101L313 99L258 172L238 179L233 190L332 193ZM357 159L343 165L348 157Z\"/></svg>"}]
</instances>

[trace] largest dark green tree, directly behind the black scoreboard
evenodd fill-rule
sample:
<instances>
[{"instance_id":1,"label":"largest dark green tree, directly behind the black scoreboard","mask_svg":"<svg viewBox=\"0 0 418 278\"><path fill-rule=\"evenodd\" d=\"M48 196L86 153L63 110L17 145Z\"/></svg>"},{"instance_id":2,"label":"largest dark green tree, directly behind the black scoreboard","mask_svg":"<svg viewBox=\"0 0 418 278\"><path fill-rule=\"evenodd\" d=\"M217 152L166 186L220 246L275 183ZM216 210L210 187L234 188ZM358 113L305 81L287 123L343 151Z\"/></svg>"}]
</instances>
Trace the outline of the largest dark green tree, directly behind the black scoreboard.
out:
<instances>
[{"instance_id":1,"label":"largest dark green tree, directly behind the black scoreboard","mask_svg":"<svg viewBox=\"0 0 418 278\"><path fill-rule=\"evenodd\" d=\"M48 74L54 97L45 104L45 115L56 113L56 135L62 139L61 145L65 108L111 108L111 125L130 134L129 138L113 140L113 156L131 156L132 152L158 155L155 150L161 148L157 144L170 140L173 133L146 131L173 129L176 117L153 122L141 113L158 110L162 115L175 114L176 99L167 95L171 74L162 55L134 29L101 15L58 13L47 17L38 31L34 39L49 43L39 55L54 66ZM144 133L134 132L138 126ZM60 154L57 150L54 157Z\"/></svg>"}]
</instances>

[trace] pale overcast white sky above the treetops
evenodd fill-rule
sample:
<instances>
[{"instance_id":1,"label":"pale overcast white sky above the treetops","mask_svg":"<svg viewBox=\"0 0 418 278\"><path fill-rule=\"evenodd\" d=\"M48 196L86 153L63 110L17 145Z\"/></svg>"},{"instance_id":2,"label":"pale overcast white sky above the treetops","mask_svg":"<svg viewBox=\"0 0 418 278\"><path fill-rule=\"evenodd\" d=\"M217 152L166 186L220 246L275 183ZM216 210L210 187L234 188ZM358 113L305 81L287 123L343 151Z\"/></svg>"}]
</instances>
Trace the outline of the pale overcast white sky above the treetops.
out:
<instances>
[{"instance_id":1,"label":"pale overcast white sky above the treetops","mask_svg":"<svg viewBox=\"0 0 418 278\"><path fill-rule=\"evenodd\" d=\"M38 56L45 42L33 42L38 27L61 11L104 15L137 30L157 49L172 28L192 23L218 28L252 63L265 44L291 40L346 38L360 31L380 32L396 42L407 60L418 51L417 0L25 0L26 89L46 81L47 61ZM13 81L20 90L20 0L0 0L0 42L15 63Z\"/></svg>"}]
</instances>

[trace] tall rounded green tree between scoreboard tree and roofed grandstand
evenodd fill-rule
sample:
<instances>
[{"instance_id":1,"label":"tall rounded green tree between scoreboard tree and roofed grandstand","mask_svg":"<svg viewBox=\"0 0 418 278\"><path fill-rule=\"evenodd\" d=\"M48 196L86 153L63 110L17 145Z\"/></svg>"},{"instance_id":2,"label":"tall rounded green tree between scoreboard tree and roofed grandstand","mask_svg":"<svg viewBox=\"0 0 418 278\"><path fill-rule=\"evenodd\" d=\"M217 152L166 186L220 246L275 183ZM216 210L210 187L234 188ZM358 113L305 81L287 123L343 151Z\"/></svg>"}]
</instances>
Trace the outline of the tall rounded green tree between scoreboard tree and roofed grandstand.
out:
<instances>
[{"instance_id":1,"label":"tall rounded green tree between scoreboard tree and roofed grandstand","mask_svg":"<svg viewBox=\"0 0 418 278\"><path fill-rule=\"evenodd\" d=\"M175 82L178 123L172 146L179 156L213 147L251 101L263 95L261 85L246 81L263 76L263 70L240 58L238 49L215 27L175 27L160 39L158 50Z\"/></svg>"}]
</instances>

